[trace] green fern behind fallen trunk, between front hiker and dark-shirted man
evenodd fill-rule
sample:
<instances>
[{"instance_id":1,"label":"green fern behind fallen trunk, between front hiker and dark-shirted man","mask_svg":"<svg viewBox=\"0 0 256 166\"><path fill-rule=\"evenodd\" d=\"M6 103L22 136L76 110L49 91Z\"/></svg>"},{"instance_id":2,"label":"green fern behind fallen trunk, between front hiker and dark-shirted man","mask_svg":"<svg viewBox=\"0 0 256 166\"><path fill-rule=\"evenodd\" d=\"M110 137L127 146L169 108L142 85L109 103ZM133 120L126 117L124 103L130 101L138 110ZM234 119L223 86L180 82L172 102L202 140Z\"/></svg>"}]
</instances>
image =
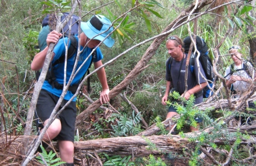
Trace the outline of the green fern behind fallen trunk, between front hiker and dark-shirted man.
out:
<instances>
[{"instance_id":1,"label":"green fern behind fallen trunk, between front hiker and dark-shirted man","mask_svg":"<svg viewBox=\"0 0 256 166\"><path fill-rule=\"evenodd\" d=\"M135 111L132 111L132 117L127 117L127 115L120 115L113 113L112 116L116 116L119 120L117 121L117 125L111 125L114 129L114 132L111 134L114 137L121 137L121 136L135 136L138 134L140 129L140 112L135 115Z\"/></svg>"}]
</instances>

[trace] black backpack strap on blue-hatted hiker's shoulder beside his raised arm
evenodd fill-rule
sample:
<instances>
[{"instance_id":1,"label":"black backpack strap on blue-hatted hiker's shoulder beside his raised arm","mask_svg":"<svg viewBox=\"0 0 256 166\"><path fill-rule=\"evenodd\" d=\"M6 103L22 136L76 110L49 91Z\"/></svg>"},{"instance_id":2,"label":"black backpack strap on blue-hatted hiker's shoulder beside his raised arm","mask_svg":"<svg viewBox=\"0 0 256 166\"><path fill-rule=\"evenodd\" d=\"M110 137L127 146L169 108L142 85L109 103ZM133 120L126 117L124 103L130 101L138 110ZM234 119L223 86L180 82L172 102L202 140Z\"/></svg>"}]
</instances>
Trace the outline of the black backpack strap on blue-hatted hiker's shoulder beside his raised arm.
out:
<instances>
[{"instance_id":1,"label":"black backpack strap on blue-hatted hiker's shoulder beside his raised arm","mask_svg":"<svg viewBox=\"0 0 256 166\"><path fill-rule=\"evenodd\" d=\"M68 48L67 51L67 59L71 58L73 54L77 51L77 40L76 37L73 35L70 36L70 47ZM63 63L65 61L65 56L61 56L58 60L55 61L55 63L52 64L52 66L55 66L59 63Z\"/></svg>"}]
</instances>

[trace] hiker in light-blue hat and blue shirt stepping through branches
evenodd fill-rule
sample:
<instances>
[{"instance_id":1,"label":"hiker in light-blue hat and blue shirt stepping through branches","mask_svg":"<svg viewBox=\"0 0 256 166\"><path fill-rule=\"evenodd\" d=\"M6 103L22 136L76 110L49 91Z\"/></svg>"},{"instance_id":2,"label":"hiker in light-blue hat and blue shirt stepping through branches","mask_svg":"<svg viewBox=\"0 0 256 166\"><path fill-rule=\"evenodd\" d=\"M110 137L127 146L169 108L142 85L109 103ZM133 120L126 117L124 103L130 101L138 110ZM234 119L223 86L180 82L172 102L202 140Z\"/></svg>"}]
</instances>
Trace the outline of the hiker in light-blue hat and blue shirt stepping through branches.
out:
<instances>
[{"instance_id":1,"label":"hiker in light-blue hat and blue shirt stepping through branches","mask_svg":"<svg viewBox=\"0 0 256 166\"><path fill-rule=\"evenodd\" d=\"M61 109L65 103L75 94L77 89L77 84L80 83L81 78L85 75L86 71L90 66L90 62L93 61L95 69L99 68L102 65L101 59L103 55L100 48L96 49L95 57L88 57L91 54L92 50L103 42L107 47L111 48L115 41L110 37L110 33L114 30L112 23L109 19L104 17L104 15L93 15L88 22L81 22L82 33L80 34L80 50L83 50L79 56L77 63L76 71L73 81L71 82L71 89L68 89L64 100L59 109ZM55 63L61 56L65 56L66 44L69 41L68 38L61 38L62 34L58 33L56 30L50 32L47 36L46 42L47 46L40 53L36 54L35 58L32 61L31 69L39 70L43 67L45 62L46 54L48 51L48 46L50 43L57 43L53 49L52 62ZM78 37L75 36L76 40ZM77 42L78 43L78 42ZM70 45L70 44L69 44ZM66 67L66 84L70 79L73 66L75 65L75 60L77 56L77 51L71 58L67 59ZM88 60L85 62L85 60ZM92 59L93 58L93 59ZM83 64L84 63L84 64ZM80 70L78 70L80 68ZM63 84L65 79L65 63L59 63L55 66L52 66L51 71L56 77L56 81L51 84L51 79L46 79L43 82L42 90L38 97L38 102L35 111L37 127L43 128L43 125L46 125L50 115L53 111L53 108L56 106L58 99L60 98L63 91ZM106 103L109 102L109 86L107 85L105 69L101 68L97 71L97 76L101 82L102 91L100 94L100 102ZM72 87L75 87L72 89ZM75 89L75 90L74 90ZM74 133L75 133L75 121L76 121L76 97L72 102L65 107L63 110L50 125L45 133L44 140L51 141L52 139L58 140L58 146L60 149L60 157L66 162L66 165L73 164L73 153L74 153Z\"/></svg>"}]
</instances>

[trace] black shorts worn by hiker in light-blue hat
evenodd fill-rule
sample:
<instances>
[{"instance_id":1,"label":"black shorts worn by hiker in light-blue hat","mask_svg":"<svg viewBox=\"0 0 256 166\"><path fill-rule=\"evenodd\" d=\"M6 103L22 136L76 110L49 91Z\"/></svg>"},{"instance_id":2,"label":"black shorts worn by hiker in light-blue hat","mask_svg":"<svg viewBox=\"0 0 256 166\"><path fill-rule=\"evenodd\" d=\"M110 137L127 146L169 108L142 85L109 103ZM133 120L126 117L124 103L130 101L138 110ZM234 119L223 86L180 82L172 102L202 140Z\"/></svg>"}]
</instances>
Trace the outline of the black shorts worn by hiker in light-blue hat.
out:
<instances>
[{"instance_id":1,"label":"black shorts worn by hiker in light-blue hat","mask_svg":"<svg viewBox=\"0 0 256 166\"><path fill-rule=\"evenodd\" d=\"M59 97L51 94L46 90L41 90L38 97L36 110L35 110L35 122L38 127L43 128L42 122L50 118L53 109L58 102ZM63 100L59 110L67 103L67 100ZM65 110L57 117L61 121L61 132L56 139L60 141L74 141L75 136L75 121L76 121L76 102L72 101L66 106Z\"/></svg>"}]
</instances>

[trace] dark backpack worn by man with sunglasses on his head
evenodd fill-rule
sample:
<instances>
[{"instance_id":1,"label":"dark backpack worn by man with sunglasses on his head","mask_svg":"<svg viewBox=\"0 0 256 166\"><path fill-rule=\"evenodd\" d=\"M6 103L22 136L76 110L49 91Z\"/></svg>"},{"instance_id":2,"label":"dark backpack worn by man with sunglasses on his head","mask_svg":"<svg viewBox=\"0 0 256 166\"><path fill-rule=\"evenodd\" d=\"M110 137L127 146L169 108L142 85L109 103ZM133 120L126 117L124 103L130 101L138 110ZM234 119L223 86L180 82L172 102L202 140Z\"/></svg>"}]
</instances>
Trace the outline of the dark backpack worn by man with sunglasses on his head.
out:
<instances>
[{"instance_id":1,"label":"dark backpack worn by man with sunglasses on his head","mask_svg":"<svg viewBox=\"0 0 256 166\"><path fill-rule=\"evenodd\" d=\"M188 54L189 53L189 47L191 44L191 39L190 37L186 37L184 40L184 50L185 53ZM208 46L205 43L204 39L196 36L196 48L198 49L198 51L200 52L200 57L199 57L199 61L203 67L203 70L205 72L205 76L206 79L210 80L208 81L210 87L213 87L213 82L214 81L214 72L213 72L213 63L211 62L210 57L208 56ZM189 66L190 66L190 70L193 69L194 67L194 63L195 63L195 59L198 56L197 53L194 54L194 47L192 50L192 53L190 55L190 60L189 60ZM207 98L210 96L210 89L208 86L204 87L203 89L203 97Z\"/></svg>"}]
</instances>

